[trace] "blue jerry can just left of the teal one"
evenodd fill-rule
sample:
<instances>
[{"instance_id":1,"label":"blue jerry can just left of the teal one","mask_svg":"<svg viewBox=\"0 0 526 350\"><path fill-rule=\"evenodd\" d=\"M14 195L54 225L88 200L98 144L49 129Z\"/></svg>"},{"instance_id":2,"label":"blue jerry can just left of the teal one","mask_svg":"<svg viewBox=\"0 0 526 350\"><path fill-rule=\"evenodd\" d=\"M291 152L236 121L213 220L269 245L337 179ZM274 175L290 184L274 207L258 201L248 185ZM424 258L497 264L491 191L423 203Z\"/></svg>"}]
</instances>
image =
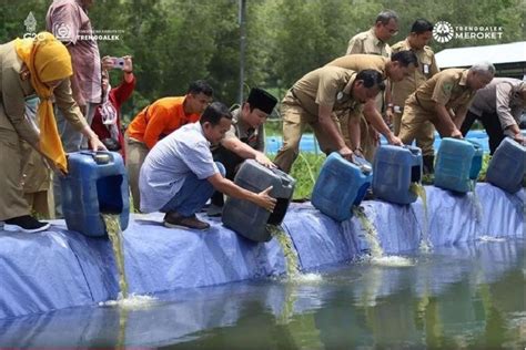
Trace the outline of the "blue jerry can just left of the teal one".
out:
<instances>
[{"instance_id":1,"label":"blue jerry can just left of the teal one","mask_svg":"<svg viewBox=\"0 0 526 350\"><path fill-rule=\"evenodd\" d=\"M373 194L396 204L411 204L417 195L409 191L412 183L422 181L422 151L413 146L383 145L373 163Z\"/></svg>"}]
</instances>

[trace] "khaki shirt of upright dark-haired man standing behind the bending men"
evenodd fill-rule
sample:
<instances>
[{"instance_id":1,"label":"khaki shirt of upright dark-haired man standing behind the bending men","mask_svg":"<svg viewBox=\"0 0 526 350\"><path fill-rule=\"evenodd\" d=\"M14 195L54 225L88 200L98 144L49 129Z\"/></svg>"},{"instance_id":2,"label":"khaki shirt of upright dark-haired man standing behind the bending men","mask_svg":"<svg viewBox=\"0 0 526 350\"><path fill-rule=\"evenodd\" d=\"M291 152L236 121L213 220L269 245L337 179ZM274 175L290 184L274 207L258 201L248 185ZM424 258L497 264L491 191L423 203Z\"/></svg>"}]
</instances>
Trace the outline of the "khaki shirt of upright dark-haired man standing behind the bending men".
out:
<instances>
[{"instance_id":1,"label":"khaki shirt of upright dark-haired man standing behind the bending men","mask_svg":"<svg viewBox=\"0 0 526 350\"><path fill-rule=\"evenodd\" d=\"M392 49L393 53L412 50L407 39L397 42ZM392 82L392 102L395 113L402 113L407 97L415 92L418 86L439 72L436 65L435 53L429 47L424 47L422 50L413 50L413 52L418 59L418 68L415 70L415 73L404 78L401 82Z\"/></svg>"}]
</instances>

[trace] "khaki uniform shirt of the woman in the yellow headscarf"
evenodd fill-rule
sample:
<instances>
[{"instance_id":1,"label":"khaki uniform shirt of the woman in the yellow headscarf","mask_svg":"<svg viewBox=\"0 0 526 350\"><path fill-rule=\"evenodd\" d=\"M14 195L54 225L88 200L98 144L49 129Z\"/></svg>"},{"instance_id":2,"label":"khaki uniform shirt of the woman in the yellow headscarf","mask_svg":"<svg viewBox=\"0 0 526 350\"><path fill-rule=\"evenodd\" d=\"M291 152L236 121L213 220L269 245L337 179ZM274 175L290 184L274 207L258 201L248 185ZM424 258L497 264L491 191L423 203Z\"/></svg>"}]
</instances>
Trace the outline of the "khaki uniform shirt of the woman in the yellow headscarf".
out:
<instances>
[{"instance_id":1,"label":"khaki uniform shirt of the woman in the yellow headscarf","mask_svg":"<svg viewBox=\"0 0 526 350\"><path fill-rule=\"evenodd\" d=\"M16 131L18 135L34 145L39 142L39 132L26 117L26 96L34 94L30 78L22 80L22 61L17 55L14 42L0 45L0 128ZM73 127L81 131L87 122L71 95L70 80L64 79L53 90L55 104Z\"/></svg>"}]
</instances>

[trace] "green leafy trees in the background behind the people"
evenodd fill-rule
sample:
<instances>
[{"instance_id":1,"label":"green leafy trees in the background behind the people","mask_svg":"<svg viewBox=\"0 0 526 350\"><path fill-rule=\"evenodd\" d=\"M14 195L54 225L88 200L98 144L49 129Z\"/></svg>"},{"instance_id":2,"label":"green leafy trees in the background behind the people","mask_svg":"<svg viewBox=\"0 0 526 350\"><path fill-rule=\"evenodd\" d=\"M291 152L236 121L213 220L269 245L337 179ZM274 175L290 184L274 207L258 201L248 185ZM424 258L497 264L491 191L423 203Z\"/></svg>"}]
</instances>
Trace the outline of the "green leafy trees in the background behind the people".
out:
<instances>
[{"instance_id":1,"label":"green leafy trees in the background behind the people","mask_svg":"<svg viewBox=\"0 0 526 350\"><path fill-rule=\"evenodd\" d=\"M29 12L37 31L45 29L51 0L0 0L0 42L26 32ZM280 97L306 72L343 55L347 41L367 30L383 9L401 17L406 37L416 18L453 25L497 25L495 40L434 42L436 52L455 47L512 42L525 38L523 0L247 0L245 86L271 89ZM206 79L216 100L233 104L239 89L239 0L95 0L89 13L95 30L122 31L117 42L100 41L102 55L134 58L136 92L123 107L129 120L149 103L184 93ZM113 83L120 79L112 73Z\"/></svg>"}]
</instances>

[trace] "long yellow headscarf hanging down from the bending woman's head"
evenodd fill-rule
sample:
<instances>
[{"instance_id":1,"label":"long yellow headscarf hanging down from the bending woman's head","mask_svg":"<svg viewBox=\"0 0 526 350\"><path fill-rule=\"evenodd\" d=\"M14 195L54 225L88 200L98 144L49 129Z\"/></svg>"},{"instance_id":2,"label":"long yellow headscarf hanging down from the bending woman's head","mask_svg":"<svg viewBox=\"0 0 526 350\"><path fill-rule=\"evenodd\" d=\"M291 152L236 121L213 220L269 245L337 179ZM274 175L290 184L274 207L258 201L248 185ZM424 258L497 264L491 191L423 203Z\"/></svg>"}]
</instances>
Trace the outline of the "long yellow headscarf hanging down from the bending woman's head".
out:
<instances>
[{"instance_id":1,"label":"long yellow headscarf hanging down from the bending woman's head","mask_svg":"<svg viewBox=\"0 0 526 350\"><path fill-rule=\"evenodd\" d=\"M31 73L31 85L40 97L38 107L40 150L64 173L68 172L51 103L52 89L44 83L73 74L68 49L53 34L41 32L34 39L17 39L14 49Z\"/></svg>"}]
</instances>

